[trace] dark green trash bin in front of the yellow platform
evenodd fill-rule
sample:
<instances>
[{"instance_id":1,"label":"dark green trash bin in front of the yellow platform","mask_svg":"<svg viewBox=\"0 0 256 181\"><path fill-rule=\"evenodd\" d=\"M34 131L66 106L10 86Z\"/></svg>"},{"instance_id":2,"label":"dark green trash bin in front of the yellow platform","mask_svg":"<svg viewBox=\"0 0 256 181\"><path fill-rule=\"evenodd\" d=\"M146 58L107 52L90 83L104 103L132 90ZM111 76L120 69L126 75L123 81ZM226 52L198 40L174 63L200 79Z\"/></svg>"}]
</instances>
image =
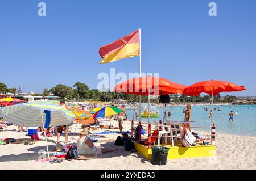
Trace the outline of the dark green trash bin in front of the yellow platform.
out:
<instances>
[{"instance_id":1,"label":"dark green trash bin in front of the yellow platform","mask_svg":"<svg viewBox=\"0 0 256 181\"><path fill-rule=\"evenodd\" d=\"M166 165L169 148L164 146L152 146L151 149L151 163L153 165Z\"/></svg>"}]
</instances>

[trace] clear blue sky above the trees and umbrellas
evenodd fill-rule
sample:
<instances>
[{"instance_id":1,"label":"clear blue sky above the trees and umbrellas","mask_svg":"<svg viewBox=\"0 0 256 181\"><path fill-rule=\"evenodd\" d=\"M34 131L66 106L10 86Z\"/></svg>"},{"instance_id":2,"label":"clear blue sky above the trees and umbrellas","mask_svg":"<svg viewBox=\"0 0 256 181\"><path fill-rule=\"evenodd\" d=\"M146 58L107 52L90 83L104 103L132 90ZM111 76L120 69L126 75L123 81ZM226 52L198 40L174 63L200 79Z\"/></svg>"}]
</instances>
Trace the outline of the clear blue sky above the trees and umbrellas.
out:
<instances>
[{"instance_id":1,"label":"clear blue sky above the trees and umbrellas","mask_svg":"<svg viewBox=\"0 0 256 181\"><path fill-rule=\"evenodd\" d=\"M46 16L38 16L39 2ZM97 74L110 68L139 71L138 57L98 64L98 49L141 28L142 71L184 85L230 81L247 90L229 95L256 95L255 7L254 0L1 1L0 82L23 92L75 82L96 88Z\"/></svg>"}]
</instances>

